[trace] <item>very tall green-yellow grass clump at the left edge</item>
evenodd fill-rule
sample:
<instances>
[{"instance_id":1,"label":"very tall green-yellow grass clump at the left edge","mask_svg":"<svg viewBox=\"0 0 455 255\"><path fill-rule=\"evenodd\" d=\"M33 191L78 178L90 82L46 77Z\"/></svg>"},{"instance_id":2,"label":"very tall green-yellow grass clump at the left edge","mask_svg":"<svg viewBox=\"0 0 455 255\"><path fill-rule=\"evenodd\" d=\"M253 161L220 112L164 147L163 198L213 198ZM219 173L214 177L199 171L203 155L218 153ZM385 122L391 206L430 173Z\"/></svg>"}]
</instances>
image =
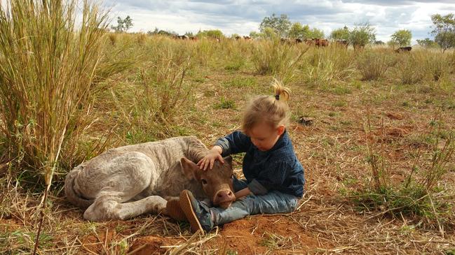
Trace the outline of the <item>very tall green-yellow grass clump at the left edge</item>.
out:
<instances>
[{"instance_id":1,"label":"very tall green-yellow grass clump at the left edge","mask_svg":"<svg viewBox=\"0 0 455 255\"><path fill-rule=\"evenodd\" d=\"M47 189L90 126L107 15L88 1L0 5L0 136L18 173ZM78 13L81 11L81 13ZM81 20L76 22L76 16Z\"/></svg>"}]
</instances>

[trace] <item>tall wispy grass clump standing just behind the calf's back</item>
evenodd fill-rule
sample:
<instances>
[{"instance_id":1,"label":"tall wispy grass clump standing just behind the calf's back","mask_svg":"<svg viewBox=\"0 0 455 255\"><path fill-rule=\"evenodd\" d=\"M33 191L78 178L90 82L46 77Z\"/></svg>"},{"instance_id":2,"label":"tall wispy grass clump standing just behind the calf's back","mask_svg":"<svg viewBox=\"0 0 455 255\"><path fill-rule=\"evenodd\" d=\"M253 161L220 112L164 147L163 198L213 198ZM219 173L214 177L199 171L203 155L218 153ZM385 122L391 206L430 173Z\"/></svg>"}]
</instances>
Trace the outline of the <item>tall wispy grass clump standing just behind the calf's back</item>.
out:
<instances>
[{"instance_id":1,"label":"tall wispy grass clump standing just behind the calf's back","mask_svg":"<svg viewBox=\"0 0 455 255\"><path fill-rule=\"evenodd\" d=\"M135 143L178 134L173 130L175 117L188 108L193 91L186 79L192 67L187 43L161 38L148 45L144 57L133 109L127 109L133 112Z\"/></svg>"}]
</instances>

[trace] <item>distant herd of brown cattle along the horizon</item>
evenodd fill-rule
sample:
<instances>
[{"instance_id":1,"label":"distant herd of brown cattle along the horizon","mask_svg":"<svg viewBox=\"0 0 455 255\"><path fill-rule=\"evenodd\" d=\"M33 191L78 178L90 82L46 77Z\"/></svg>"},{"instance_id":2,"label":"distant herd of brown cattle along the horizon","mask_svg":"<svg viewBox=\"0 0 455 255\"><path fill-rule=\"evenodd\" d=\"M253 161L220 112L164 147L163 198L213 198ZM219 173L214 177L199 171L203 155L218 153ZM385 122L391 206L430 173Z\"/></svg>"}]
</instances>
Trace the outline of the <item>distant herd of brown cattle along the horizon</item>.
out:
<instances>
[{"instance_id":1,"label":"distant herd of brown cattle along the horizon","mask_svg":"<svg viewBox=\"0 0 455 255\"><path fill-rule=\"evenodd\" d=\"M185 41L198 41L198 37L196 37L196 36L174 35L174 36L172 36L172 38L177 39L177 40L185 40ZM250 36L235 36L235 37L233 37L233 40L236 40L236 41L240 41L240 40L252 41L252 40L256 40L256 39L253 39ZM219 38L215 38L215 41L219 42ZM349 42L347 40L329 41L329 40L324 39L324 38L312 38L312 39L311 38L305 38L305 39L301 39L301 38L280 38L280 43L289 44L289 45L298 44L298 43L305 43L306 45L316 46L316 47L327 47L327 46L329 46L330 43L332 43L332 45L337 45L337 46L343 47L343 48L348 48L348 45L349 45ZM361 49L363 47L364 47L364 45L353 45L354 49ZM398 52L398 53L400 53L400 52L410 52L411 50L412 50L412 47L407 46L407 47L400 47L397 50L395 50L395 52Z\"/></svg>"}]
</instances>

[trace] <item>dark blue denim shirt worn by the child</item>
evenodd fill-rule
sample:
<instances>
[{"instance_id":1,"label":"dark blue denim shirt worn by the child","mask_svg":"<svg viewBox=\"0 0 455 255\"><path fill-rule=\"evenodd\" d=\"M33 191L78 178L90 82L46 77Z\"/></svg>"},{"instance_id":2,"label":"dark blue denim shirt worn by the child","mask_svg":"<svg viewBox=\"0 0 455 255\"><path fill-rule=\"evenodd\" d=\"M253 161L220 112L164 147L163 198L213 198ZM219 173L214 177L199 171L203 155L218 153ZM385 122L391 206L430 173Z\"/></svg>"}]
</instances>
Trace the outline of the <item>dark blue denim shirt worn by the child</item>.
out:
<instances>
[{"instance_id":1,"label":"dark blue denim shirt worn by the child","mask_svg":"<svg viewBox=\"0 0 455 255\"><path fill-rule=\"evenodd\" d=\"M223 149L222 156L246 152L243 157L243 175L254 195L264 195L271 190L302 197L304 194L304 167L301 166L287 131L273 147L260 151L250 137L240 131L217 140Z\"/></svg>"}]
</instances>

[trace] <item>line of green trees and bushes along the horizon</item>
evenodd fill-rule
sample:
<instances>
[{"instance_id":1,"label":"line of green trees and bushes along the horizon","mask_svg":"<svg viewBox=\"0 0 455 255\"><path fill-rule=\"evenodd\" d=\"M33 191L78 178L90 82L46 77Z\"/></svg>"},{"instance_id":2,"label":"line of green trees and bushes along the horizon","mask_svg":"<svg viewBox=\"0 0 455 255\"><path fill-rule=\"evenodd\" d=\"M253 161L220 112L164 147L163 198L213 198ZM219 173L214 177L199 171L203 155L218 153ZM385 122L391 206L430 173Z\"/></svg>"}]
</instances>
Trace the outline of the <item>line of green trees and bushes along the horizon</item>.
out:
<instances>
[{"instance_id":1,"label":"line of green trees and bushes along the horizon","mask_svg":"<svg viewBox=\"0 0 455 255\"><path fill-rule=\"evenodd\" d=\"M455 14L431 15L431 21L433 22L433 30L430 34L434 36L434 40L424 38L422 40L416 40L417 43L424 48L440 47L443 52L449 48L455 48ZM133 27L133 20L130 16L127 16L125 19L118 17L117 25L111 26L111 29L114 29L116 32L126 32L131 27ZM165 31L158 28L155 28L154 31L147 31L147 34L160 34L165 36L177 35L174 31ZM186 32L185 35L190 37L225 37L219 29L198 31L196 34ZM238 34L233 34L231 37L236 38L237 36ZM259 24L259 31L251 31L250 37L300 39L326 38L324 31L320 29L311 28L308 24L301 24L300 22L291 22L286 14L277 16L275 13L271 16L264 17L261 24ZM382 41L376 41L376 29L368 23L357 24L352 29L346 26L334 29L327 38L334 41L346 41L348 44L360 46L368 44L386 44ZM391 40L387 42L387 45L393 48L407 46L411 44L411 40L412 32L409 29L400 29L391 35Z\"/></svg>"}]
</instances>

